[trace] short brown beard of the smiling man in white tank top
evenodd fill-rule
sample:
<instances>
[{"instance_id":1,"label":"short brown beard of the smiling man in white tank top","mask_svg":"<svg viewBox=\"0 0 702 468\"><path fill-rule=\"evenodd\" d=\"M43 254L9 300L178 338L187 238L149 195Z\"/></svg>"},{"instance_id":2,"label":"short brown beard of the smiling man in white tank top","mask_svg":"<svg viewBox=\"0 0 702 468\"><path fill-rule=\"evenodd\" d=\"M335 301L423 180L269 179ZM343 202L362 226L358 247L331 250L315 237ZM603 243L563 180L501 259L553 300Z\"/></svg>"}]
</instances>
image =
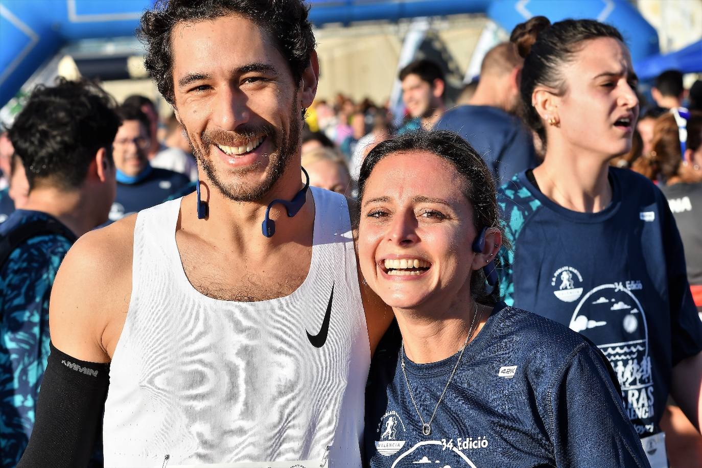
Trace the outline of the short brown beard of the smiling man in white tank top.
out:
<instances>
[{"instance_id":1,"label":"short brown beard of the smiling man in white tank top","mask_svg":"<svg viewBox=\"0 0 702 468\"><path fill-rule=\"evenodd\" d=\"M259 126L257 128L258 131L263 131L267 142L272 140L274 151L267 155L267 157L270 159L270 165L268 172L265 175L265 179L255 186L246 186L244 183L225 183L218 176L215 165L210 158L211 146L215 145L214 142L211 142L211 137L208 137L206 132L202 133L200 135L200 141L208 143L204 145L204 148L197 147L196 145L193 145L193 139L190 132L187 131L186 128L185 135L187 136L190 146L193 149L195 159L197 159L199 162L199 165L201 166L208 180L227 199L240 202L258 201L263 199L263 196L265 196L265 194L272 189L278 179L283 175L291 160L291 157L297 152L298 146L300 145L300 131L302 128L302 122L300 120L300 111L297 108L297 95L298 94L296 92L293 96L293 105L290 109L289 132L282 130L278 131L272 125ZM185 128L185 126L183 127ZM247 133L242 134L246 135ZM217 149L217 151L219 151L219 149ZM237 173L239 175L245 175L246 173L255 172L258 168L260 168L260 166L262 166L262 163L257 161L249 167L240 169L237 171Z\"/></svg>"}]
</instances>

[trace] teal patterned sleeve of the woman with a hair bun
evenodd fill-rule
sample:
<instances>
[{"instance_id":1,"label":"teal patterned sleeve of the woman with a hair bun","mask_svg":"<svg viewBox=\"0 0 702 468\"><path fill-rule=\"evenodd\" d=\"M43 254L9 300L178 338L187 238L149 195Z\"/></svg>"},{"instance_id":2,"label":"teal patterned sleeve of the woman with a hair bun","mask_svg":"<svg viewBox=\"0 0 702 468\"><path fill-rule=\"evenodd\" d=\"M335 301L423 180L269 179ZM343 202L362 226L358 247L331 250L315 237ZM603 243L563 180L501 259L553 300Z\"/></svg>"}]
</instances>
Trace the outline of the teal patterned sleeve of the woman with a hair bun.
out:
<instances>
[{"instance_id":1,"label":"teal patterned sleeve of the woman with a hair bun","mask_svg":"<svg viewBox=\"0 0 702 468\"><path fill-rule=\"evenodd\" d=\"M507 305L514 305L515 283L513 281L513 272L519 233L522 232L522 228L529 216L541 206L541 202L534 198L529 189L524 187L522 182L519 181L518 175L515 175L510 182L498 189L497 203L502 213L501 222L505 231L505 237L511 244L511 248L503 245L497 254L500 294Z\"/></svg>"}]
</instances>

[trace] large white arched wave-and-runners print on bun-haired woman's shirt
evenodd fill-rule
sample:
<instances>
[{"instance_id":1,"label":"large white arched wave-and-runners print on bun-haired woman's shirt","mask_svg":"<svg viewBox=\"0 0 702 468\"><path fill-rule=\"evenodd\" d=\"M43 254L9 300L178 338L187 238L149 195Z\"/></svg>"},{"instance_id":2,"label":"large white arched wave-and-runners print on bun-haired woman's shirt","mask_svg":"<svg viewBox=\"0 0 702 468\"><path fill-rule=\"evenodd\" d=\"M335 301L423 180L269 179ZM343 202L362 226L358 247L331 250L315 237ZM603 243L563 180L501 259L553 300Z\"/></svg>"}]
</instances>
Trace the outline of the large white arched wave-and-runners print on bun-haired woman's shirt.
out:
<instances>
[{"instance_id":1,"label":"large white arched wave-and-runners print on bun-haired woman's shirt","mask_svg":"<svg viewBox=\"0 0 702 468\"><path fill-rule=\"evenodd\" d=\"M602 284L583 296L570 321L571 330L590 338L616 373L626 412L639 434L654 431L654 382L651 375L646 314L631 290L640 281ZM620 335L621 342L607 342ZM637 424L640 420L644 425Z\"/></svg>"}]
</instances>

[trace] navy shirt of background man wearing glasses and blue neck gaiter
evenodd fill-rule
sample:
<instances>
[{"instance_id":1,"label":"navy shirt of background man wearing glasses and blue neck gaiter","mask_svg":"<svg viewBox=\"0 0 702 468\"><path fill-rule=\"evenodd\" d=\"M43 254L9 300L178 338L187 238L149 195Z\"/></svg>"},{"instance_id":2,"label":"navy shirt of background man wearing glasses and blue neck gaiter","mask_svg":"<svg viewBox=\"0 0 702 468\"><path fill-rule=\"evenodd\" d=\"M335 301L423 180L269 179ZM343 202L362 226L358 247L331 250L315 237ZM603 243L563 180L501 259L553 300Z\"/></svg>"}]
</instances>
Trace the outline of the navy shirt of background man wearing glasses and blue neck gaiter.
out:
<instances>
[{"instance_id":1,"label":"navy shirt of background man wearing glasses and blue neck gaiter","mask_svg":"<svg viewBox=\"0 0 702 468\"><path fill-rule=\"evenodd\" d=\"M117 181L117 196L110 208L110 222L163 203L190 183L181 173L147 166L136 182Z\"/></svg>"}]
</instances>

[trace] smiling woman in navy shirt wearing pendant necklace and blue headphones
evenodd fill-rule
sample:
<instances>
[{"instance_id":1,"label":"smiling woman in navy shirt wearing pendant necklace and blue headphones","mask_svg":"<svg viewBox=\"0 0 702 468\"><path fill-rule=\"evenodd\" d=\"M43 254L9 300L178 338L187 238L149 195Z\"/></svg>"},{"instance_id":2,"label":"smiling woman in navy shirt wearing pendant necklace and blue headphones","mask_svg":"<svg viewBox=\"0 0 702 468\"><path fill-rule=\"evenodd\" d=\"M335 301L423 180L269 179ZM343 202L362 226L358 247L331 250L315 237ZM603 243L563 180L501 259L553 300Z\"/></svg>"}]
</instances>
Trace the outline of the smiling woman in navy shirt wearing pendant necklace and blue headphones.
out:
<instances>
[{"instance_id":1,"label":"smiling woman in navy shirt wearing pendant necklace and blue headphones","mask_svg":"<svg viewBox=\"0 0 702 468\"><path fill-rule=\"evenodd\" d=\"M360 266L402 335L388 332L371 365L369 466L648 466L597 349L490 284L498 205L467 142L437 131L380 143L359 198Z\"/></svg>"}]
</instances>

